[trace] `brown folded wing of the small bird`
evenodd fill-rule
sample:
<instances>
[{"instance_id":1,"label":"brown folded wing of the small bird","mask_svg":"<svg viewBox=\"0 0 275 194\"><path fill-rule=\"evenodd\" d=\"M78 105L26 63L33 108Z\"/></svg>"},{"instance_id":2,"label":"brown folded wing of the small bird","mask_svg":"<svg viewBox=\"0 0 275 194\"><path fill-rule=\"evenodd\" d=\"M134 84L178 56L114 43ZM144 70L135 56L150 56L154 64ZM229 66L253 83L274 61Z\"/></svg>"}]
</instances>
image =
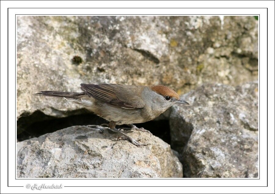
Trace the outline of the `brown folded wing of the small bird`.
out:
<instances>
[{"instance_id":1,"label":"brown folded wing of the small bird","mask_svg":"<svg viewBox=\"0 0 275 194\"><path fill-rule=\"evenodd\" d=\"M119 84L80 84L87 95L125 109L138 109L144 106L138 97L142 86L127 86ZM134 87L134 88L133 88Z\"/></svg>"}]
</instances>

